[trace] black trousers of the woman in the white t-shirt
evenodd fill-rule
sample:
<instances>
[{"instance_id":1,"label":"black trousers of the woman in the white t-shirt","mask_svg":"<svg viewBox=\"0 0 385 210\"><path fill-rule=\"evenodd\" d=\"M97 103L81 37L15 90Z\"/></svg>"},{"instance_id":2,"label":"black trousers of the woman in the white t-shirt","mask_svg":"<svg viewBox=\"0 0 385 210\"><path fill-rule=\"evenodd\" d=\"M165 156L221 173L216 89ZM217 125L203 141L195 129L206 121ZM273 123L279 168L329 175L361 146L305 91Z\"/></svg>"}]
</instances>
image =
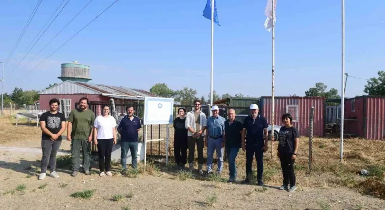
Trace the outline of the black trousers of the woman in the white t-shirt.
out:
<instances>
[{"instance_id":1,"label":"black trousers of the woman in the white t-shirt","mask_svg":"<svg viewBox=\"0 0 385 210\"><path fill-rule=\"evenodd\" d=\"M111 152L114 139L98 139L99 170L100 172L110 171Z\"/></svg>"}]
</instances>

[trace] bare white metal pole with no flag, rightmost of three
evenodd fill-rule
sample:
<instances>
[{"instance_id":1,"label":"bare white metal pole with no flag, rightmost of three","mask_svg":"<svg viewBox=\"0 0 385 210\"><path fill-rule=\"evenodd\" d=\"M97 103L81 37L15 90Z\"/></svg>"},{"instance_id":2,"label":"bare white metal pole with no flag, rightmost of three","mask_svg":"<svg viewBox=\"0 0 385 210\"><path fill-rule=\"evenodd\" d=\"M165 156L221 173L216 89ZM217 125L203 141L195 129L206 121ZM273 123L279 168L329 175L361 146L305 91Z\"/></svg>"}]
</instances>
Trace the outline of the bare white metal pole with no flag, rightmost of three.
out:
<instances>
[{"instance_id":1,"label":"bare white metal pole with no flag, rightmost of three","mask_svg":"<svg viewBox=\"0 0 385 210\"><path fill-rule=\"evenodd\" d=\"M342 78L341 78L341 150L339 161L343 161L343 122L344 122L344 112L345 112L345 0L342 0Z\"/></svg>"}]
</instances>

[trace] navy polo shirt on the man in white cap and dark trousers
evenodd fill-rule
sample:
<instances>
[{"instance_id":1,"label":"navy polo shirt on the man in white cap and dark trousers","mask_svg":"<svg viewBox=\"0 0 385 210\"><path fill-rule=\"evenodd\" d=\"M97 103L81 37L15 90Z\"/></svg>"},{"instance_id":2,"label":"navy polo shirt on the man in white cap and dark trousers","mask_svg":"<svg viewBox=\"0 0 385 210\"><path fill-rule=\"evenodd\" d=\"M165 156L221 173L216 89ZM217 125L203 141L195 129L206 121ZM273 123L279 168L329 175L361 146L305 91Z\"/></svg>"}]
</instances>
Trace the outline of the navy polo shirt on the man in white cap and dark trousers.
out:
<instances>
[{"instance_id":1,"label":"navy polo shirt on the man in white cap and dark trousers","mask_svg":"<svg viewBox=\"0 0 385 210\"><path fill-rule=\"evenodd\" d=\"M263 146L264 134L263 129L268 128L265 117L258 114L256 119L250 115L243 121L243 128L246 129L246 145L247 146Z\"/></svg>"}]
</instances>

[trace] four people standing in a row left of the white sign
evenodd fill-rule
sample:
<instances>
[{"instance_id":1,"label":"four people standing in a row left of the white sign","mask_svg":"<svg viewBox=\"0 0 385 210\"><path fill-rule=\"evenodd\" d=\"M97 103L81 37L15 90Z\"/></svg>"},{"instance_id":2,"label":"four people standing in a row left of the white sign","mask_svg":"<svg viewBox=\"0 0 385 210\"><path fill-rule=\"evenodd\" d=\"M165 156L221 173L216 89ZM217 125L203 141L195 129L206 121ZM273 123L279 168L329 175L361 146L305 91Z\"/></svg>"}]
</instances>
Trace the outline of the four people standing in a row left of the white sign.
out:
<instances>
[{"instance_id":1,"label":"four people standing in a row left of the white sign","mask_svg":"<svg viewBox=\"0 0 385 210\"><path fill-rule=\"evenodd\" d=\"M67 128L67 140L71 141L72 173L77 176L80 168L80 151L83 152L82 167L85 175L90 175L91 142L97 145L99 154L100 176L112 176L111 153L113 145L117 144L116 131L121 135L121 164L122 174L127 173L127 154L131 150L132 167L137 169L137 151L141 128L140 119L134 116L134 108L127 106L127 115L116 123L114 117L109 115L110 108L104 105L102 115L95 118L95 114L88 109L88 99L79 100L79 108L70 112L66 125L65 116L58 111L58 99L49 101L50 111L40 117L42 130L42 161L39 180L46 177L47 167L50 167L50 176L59 178L56 172L56 154L61 145L61 135Z\"/></svg>"}]
</instances>

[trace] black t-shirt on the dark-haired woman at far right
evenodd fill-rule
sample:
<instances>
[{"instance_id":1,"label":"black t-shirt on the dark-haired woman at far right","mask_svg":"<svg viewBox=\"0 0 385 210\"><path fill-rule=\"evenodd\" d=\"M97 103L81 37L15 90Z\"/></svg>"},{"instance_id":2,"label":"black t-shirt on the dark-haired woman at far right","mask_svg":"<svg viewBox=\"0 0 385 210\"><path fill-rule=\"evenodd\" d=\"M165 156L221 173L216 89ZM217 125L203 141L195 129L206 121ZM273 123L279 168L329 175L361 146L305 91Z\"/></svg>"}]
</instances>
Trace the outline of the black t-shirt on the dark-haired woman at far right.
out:
<instances>
[{"instance_id":1,"label":"black t-shirt on the dark-haired woman at far right","mask_svg":"<svg viewBox=\"0 0 385 210\"><path fill-rule=\"evenodd\" d=\"M278 151L280 153L294 153L294 143L296 138L299 138L299 132L297 128L281 127L281 129L279 129Z\"/></svg>"}]
</instances>

